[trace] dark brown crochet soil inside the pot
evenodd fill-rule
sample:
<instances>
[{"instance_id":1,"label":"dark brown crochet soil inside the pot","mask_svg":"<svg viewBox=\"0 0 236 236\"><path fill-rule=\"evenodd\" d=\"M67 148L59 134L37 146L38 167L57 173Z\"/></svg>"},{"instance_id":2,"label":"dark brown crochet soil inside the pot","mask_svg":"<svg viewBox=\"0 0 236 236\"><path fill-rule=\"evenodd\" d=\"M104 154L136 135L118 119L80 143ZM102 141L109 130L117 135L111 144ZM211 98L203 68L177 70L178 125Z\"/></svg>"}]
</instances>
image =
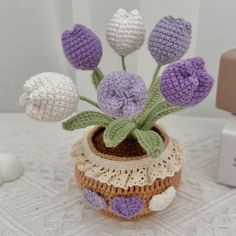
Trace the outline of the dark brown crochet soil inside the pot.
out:
<instances>
[{"instance_id":1,"label":"dark brown crochet soil inside the pot","mask_svg":"<svg viewBox=\"0 0 236 236\"><path fill-rule=\"evenodd\" d=\"M119 156L119 157L135 157L146 154L146 151L139 145L136 139L125 139L116 147L106 147L103 141L104 128L99 129L93 136L94 147L101 153ZM156 131L156 130L155 130Z\"/></svg>"}]
</instances>

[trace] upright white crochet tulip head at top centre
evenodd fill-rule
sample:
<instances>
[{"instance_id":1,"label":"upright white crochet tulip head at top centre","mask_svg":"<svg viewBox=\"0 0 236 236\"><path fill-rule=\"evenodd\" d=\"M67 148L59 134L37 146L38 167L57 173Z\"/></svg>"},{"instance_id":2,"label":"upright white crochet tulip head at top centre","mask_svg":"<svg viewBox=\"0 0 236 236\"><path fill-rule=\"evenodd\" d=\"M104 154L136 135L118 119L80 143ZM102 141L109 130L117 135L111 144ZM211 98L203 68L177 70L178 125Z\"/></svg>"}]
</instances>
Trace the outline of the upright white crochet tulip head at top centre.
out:
<instances>
[{"instance_id":1,"label":"upright white crochet tulip head at top centre","mask_svg":"<svg viewBox=\"0 0 236 236\"><path fill-rule=\"evenodd\" d=\"M110 46L120 56L126 56L139 49L145 40L145 29L139 11L128 13L119 9L108 24L106 37Z\"/></svg>"}]
</instances>

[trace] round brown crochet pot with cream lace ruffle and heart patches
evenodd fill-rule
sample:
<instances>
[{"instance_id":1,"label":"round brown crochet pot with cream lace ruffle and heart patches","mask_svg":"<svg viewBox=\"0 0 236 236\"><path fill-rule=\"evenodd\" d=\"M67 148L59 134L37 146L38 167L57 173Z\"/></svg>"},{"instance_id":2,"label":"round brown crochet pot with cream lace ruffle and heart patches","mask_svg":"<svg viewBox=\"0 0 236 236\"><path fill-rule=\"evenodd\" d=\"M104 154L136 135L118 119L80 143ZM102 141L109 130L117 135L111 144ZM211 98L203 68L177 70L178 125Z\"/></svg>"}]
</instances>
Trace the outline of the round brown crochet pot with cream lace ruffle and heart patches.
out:
<instances>
[{"instance_id":1,"label":"round brown crochet pot with cream lace ruffle and heart patches","mask_svg":"<svg viewBox=\"0 0 236 236\"><path fill-rule=\"evenodd\" d=\"M102 127L89 130L72 148L76 179L87 202L121 219L137 219L166 208L174 200L184 162L178 142L156 126L164 150L151 159L134 140L115 149L101 148L103 132Z\"/></svg>"}]
</instances>

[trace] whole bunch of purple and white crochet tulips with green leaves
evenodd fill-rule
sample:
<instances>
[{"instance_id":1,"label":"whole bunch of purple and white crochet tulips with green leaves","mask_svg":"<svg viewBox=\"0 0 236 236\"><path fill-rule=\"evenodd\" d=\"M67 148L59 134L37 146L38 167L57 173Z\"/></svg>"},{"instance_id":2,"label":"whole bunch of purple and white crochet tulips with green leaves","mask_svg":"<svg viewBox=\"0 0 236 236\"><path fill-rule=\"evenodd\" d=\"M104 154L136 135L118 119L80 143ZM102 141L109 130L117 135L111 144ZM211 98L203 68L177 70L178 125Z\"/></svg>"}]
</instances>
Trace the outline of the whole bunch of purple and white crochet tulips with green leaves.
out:
<instances>
[{"instance_id":1,"label":"whole bunch of purple and white crochet tulips with green leaves","mask_svg":"<svg viewBox=\"0 0 236 236\"><path fill-rule=\"evenodd\" d=\"M93 70L92 82L98 103L79 97L70 78L58 73L42 73L25 82L21 104L27 105L26 113L31 118L57 121L69 116L80 98L101 112L81 112L63 122L64 129L101 125L106 128L107 147L115 147L127 137L133 137L155 158L163 150L162 138L152 130L155 122L164 115L200 103L211 91L214 80L207 73L202 58L179 60L191 41L191 24L184 19L163 17L151 31L148 50L158 64L148 89L140 76L127 72L125 67L125 58L138 50L145 39L138 10L130 13L118 10L108 24L106 36L109 45L121 56L123 65L122 71L108 75L98 68L102 46L90 29L75 25L73 30L62 34L64 53L71 65ZM161 66L168 63L158 77Z\"/></svg>"}]
</instances>

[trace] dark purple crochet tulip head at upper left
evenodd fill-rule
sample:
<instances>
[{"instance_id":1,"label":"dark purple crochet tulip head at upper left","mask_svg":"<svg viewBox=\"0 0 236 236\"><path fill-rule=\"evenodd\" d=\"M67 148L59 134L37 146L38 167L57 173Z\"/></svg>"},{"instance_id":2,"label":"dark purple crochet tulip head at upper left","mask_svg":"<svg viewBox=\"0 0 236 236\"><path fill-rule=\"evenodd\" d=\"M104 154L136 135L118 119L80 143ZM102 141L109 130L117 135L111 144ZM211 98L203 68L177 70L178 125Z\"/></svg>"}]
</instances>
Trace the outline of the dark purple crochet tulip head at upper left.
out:
<instances>
[{"instance_id":1,"label":"dark purple crochet tulip head at upper left","mask_svg":"<svg viewBox=\"0 0 236 236\"><path fill-rule=\"evenodd\" d=\"M93 70L102 57L102 45L98 37L83 25L75 25L72 31L62 34L64 53L71 65L81 70Z\"/></svg>"}]
</instances>

